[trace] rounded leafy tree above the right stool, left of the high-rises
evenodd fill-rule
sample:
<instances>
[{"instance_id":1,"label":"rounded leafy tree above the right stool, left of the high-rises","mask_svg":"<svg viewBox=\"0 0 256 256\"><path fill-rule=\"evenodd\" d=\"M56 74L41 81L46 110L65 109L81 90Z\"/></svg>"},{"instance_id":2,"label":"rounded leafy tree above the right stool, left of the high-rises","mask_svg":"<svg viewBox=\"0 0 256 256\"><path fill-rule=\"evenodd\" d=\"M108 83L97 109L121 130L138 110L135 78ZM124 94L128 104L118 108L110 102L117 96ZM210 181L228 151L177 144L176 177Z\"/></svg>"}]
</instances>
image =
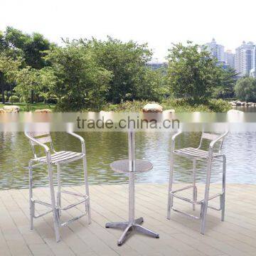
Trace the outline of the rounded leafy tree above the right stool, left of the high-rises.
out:
<instances>
[{"instance_id":1,"label":"rounded leafy tree above the right stool, left of the high-rises","mask_svg":"<svg viewBox=\"0 0 256 256\"><path fill-rule=\"evenodd\" d=\"M220 67L205 48L187 43L169 49L166 84L176 97L210 97L213 87L218 86Z\"/></svg>"}]
</instances>

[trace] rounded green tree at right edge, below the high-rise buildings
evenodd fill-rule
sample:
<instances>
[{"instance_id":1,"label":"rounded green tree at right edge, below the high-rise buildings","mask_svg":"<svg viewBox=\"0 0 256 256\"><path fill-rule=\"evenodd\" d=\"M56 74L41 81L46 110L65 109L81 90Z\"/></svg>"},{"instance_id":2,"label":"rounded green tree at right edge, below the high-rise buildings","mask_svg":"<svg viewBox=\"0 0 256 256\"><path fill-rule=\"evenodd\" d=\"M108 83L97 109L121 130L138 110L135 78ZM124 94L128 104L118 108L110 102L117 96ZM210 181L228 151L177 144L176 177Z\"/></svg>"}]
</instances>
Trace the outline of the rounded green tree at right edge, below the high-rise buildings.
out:
<instances>
[{"instance_id":1,"label":"rounded green tree at right edge, below the high-rise buildings","mask_svg":"<svg viewBox=\"0 0 256 256\"><path fill-rule=\"evenodd\" d=\"M247 102L256 102L256 79L240 78L235 85L235 95Z\"/></svg>"}]
</instances>

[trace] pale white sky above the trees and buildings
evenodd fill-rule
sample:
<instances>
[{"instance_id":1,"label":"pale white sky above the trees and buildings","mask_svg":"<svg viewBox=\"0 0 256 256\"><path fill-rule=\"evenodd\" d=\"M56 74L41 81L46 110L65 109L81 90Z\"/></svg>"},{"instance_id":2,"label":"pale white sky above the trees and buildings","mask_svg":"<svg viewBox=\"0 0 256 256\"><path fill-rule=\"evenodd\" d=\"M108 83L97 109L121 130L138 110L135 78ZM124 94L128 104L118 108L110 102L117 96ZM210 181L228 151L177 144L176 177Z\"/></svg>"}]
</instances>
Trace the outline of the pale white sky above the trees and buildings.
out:
<instances>
[{"instance_id":1,"label":"pale white sky above the trees and buildings","mask_svg":"<svg viewBox=\"0 0 256 256\"><path fill-rule=\"evenodd\" d=\"M215 38L225 50L256 42L255 0L1 0L0 30L14 26L61 38L149 43L163 61L171 43L207 43Z\"/></svg>"}]
</instances>

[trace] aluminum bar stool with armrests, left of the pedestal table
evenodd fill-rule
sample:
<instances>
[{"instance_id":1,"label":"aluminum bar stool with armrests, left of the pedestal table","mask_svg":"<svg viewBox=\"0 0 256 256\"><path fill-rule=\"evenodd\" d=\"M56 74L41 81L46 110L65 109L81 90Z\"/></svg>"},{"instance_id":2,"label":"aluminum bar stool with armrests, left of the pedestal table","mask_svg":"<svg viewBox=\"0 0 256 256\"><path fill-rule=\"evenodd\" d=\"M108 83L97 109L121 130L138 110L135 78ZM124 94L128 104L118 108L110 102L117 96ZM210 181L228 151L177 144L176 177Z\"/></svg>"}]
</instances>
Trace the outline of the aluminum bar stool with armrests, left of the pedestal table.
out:
<instances>
[{"instance_id":1,"label":"aluminum bar stool with armrests, left of the pedestal table","mask_svg":"<svg viewBox=\"0 0 256 256\"><path fill-rule=\"evenodd\" d=\"M91 223L90 217L90 198L89 198L89 187L88 187L88 180L87 180L87 163L86 163L86 155L85 155L85 140L80 137L78 134L73 132L68 132L68 134L73 135L74 137L80 139L82 151L81 152L72 152L72 151L55 151L53 148L53 142L50 137L49 132L25 132L26 137L28 137L29 142L32 147L34 158L31 159L28 163L29 169L29 208L30 208L30 227L31 230L33 229L33 219L42 217L48 213L53 213L53 223L54 223L54 230L55 230L55 238L56 241L60 241L60 231L59 228L69 223L73 222L74 220L78 220L87 214L88 223ZM46 145L50 144L50 148ZM41 146L46 156L37 156L35 146ZM60 183L60 166L63 164L67 164L73 161L77 161L82 159L83 164L83 171L85 176L85 194L80 193L73 193L70 191L62 191L61 190L61 183ZM33 168L39 166L41 164L45 164L48 167L48 180L49 180L49 187L50 187L50 203L36 200L33 198ZM57 180L58 180L58 189L57 189L57 197L55 198L55 188L53 186L53 169L52 166L57 166ZM76 201L75 203L70 204L69 206L62 207L61 206L61 194L67 193L71 196L75 196L80 198L80 200ZM35 205L36 203L41 204L50 208L45 213L40 215L35 214ZM85 213L82 215L76 216L65 223L61 223L60 215L61 210L68 210L75 206L78 206L81 203L85 203Z\"/></svg>"}]
</instances>

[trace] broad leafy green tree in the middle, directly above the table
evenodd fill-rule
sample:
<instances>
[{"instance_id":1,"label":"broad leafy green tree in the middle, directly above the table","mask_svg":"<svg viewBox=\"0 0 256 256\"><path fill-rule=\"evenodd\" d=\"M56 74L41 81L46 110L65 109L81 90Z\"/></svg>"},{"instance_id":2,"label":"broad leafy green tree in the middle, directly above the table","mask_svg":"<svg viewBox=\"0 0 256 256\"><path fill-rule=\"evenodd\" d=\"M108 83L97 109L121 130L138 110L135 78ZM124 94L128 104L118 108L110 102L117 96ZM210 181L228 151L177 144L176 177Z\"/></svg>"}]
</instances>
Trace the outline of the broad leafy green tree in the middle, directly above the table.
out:
<instances>
[{"instance_id":1,"label":"broad leafy green tree in the middle, directly above the table","mask_svg":"<svg viewBox=\"0 0 256 256\"><path fill-rule=\"evenodd\" d=\"M81 42L85 48L90 48L97 65L112 73L107 101L119 103L127 100L127 95L129 100L141 97L137 95L137 88L145 85L146 63L152 55L146 44L124 43L111 37L107 41L92 38Z\"/></svg>"}]
</instances>

